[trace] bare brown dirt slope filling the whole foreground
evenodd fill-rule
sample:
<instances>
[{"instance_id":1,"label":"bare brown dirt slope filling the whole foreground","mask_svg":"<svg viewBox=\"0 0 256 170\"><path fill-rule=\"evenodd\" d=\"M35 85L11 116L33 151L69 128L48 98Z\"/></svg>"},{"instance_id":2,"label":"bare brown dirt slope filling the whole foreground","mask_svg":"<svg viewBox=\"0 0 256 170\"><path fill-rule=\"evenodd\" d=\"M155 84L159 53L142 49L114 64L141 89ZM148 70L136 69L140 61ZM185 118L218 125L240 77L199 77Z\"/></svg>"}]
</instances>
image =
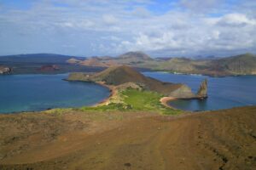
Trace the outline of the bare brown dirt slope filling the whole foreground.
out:
<instances>
[{"instance_id":1,"label":"bare brown dirt slope filling the whole foreground","mask_svg":"<svg viewBox=\"0 0 256 170\"><path fill-rule=\"evenodd\" d=\"M255 169L256 107L0 116L0 169Z\"/></svg>"}]
</instances>

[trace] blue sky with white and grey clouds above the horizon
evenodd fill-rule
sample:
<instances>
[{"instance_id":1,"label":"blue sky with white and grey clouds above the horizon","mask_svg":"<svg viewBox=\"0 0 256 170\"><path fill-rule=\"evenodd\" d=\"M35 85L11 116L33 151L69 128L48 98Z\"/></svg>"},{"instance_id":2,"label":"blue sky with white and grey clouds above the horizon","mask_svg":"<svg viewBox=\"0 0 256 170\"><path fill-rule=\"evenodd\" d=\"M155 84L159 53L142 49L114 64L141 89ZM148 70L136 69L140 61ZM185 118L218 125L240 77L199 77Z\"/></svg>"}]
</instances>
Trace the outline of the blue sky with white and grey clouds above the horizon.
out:
<instances>
[{"instance_id":1,"label":"blue sky with white and grey clouds above the horizon","mask_svg":"<svg viewBox=\"0 0 256 170\"><path fill-rule=\"evenodd\" d=\"M256 0L0 0L0 55L256 54Z\"/></svg>"}]
</instances>

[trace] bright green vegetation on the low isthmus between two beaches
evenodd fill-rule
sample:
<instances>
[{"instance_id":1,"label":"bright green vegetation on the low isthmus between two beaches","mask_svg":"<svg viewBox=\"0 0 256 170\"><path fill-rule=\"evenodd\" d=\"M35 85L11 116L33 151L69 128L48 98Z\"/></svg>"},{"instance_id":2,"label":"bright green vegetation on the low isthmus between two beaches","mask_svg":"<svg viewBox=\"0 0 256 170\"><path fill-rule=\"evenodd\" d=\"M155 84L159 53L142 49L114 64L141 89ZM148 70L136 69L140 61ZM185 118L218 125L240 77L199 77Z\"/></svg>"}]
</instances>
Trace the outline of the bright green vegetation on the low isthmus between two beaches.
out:
<instances>
[{"instance_id":1,"label":"bright green vegetation on the low isthmus between two beaches","mask_svg":"<svg viewBox=\"0 0 256 170\"><path fill-rule=\"evenodd\" d=\"M119 103L111 102L108 105L99 105L96 107L82 107L80 111L154 111L164 115L176 115L181 111L167 108L160 104L161 94L147 91L127 88L119 91ZM111 101L111 100L110 100Z\"/></svg>"}]
</instances>

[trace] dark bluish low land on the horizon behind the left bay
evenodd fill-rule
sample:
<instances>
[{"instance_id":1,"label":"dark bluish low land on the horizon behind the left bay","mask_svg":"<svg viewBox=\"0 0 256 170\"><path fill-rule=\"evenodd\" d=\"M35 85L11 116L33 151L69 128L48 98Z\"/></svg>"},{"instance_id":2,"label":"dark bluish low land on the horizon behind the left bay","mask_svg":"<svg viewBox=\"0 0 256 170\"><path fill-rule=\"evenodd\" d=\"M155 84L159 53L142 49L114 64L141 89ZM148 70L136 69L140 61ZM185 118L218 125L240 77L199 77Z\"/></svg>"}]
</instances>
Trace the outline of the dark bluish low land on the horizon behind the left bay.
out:
<instances>
[{"instance_id":1,"label":"dark bluish low land on the horizon behind the left bay","mask_svg":"<svg viewBox=\"0 0 256 170\"><path fill-rule=\"evenodd\" d=\"M19 54L0 56L0 65L10 69L9 74L58 74L72 71L102 71L102 68L73 65L67 60L82 60L61 54ZM57 69L56 69L57 68Z\"/></svg>"}]
</instances>

